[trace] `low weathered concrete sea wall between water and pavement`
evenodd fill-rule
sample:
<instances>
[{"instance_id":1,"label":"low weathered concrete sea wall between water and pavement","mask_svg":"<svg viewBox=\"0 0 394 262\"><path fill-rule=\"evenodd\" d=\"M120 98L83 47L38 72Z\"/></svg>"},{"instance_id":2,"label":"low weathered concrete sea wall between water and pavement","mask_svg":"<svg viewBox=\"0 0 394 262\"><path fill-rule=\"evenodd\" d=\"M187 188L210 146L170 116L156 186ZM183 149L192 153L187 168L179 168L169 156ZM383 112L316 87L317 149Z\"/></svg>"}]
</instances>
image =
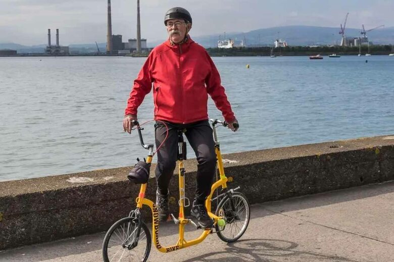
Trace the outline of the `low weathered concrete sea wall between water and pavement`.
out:
<instances>
[{"instance_id":1,"label":"low weathered concrete sea wall between water and pavement","mask_svg":"<svg viewBox=\"0 0 394 262\"><path fill-rule=\"evenodd\" d=\"M394 135L223 155L225 172L250 203L394 179ZM151 173L155 165L152 166ZM192 200L195 160L187 160ZM0 250L106 231L135 208L139 186L130 167L0 182ZM170 208L177 214L177 176ZM151 177L146 197L155 200ZM146 220L150 211L145 209Z\"/></svg>"}]
</instances>

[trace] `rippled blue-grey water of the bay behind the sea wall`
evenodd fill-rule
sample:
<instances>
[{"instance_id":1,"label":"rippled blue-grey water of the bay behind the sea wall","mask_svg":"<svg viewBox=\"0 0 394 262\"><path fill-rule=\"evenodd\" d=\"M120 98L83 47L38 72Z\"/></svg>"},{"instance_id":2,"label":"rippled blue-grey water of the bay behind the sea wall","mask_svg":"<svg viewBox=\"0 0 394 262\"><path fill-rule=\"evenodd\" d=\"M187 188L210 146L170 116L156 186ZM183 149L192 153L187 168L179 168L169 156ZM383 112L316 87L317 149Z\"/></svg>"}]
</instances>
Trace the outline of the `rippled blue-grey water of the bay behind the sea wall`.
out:
<instances>
[{"instance_id":1,"label":"rippled blue-grey water of the bay behind the sea wall","mask_svg":"<svg viewBox=\"0 0 394 262\"><path fill-rule=\"evenodd\" d=\"M393 57L213 59L240 122L237 133L218 130L223 153L394 134ZM122 127L144 60L0 57L0 180L129 166L144 157L137 133ZM221 118L211 100L209 108ZM138 117L153 118L152 93ZM153 142L152 125L144 135Z\"/></svg>"}]
</instances>

